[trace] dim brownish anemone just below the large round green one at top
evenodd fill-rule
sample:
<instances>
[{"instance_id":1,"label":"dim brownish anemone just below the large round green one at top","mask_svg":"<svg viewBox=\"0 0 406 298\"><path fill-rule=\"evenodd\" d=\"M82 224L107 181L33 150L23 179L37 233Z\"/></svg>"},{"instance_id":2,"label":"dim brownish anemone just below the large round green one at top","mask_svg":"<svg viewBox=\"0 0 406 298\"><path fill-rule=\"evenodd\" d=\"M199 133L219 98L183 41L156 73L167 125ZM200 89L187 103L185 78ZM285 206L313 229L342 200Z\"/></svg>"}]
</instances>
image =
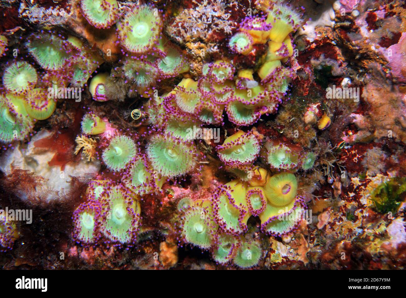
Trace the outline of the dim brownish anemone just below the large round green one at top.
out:
<instances>
[{"instance_id":1,"label":"dim brownish anemone just below the large round green one at top","mask_svg":"<svg viewBox=\"0 0 406 298\"><path fill-rule=\"evenodd\" d=\"M122 67L124 75L135 84L139 94L155 83L158 70L152 63L145 60L126 59Z\"/></svg>"}]
</instances>

